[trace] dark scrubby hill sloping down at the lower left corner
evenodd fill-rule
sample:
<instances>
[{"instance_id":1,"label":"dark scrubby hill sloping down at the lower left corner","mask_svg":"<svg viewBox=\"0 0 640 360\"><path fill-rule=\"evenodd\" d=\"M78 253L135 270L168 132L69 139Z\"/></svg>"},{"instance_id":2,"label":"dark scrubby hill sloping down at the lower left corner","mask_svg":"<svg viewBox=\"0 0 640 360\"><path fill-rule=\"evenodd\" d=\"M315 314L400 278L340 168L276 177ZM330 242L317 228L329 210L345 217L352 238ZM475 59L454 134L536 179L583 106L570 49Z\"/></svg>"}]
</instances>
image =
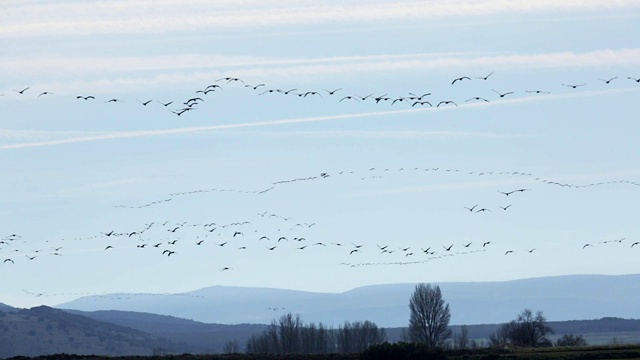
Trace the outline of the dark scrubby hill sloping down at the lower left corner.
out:
<instances>
[{"instance_id":1,"label":"dark scrubby hill sloping down at the lower left corner","mask_svg":"<svg viewBox=\"0 0 640 360\"><path fill-rule=\"evenodd\" d=\"M46 306L0 312L0 358L56 353L152 355L161 349L181 350L142 331Z\"/></svg>"}]
</instances>

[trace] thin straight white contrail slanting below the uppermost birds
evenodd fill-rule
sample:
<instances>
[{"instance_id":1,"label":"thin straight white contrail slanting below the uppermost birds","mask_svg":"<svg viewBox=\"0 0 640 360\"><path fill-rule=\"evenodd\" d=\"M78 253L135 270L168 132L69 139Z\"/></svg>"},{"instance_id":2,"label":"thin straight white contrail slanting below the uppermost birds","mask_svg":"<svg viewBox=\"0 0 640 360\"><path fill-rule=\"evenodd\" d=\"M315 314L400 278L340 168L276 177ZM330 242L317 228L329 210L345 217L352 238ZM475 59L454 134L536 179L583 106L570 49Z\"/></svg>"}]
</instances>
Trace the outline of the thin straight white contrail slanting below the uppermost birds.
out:
<instances>
[{"instance_id":1,"label":"thin straight white contrail slanting below the uppermost birds","mask_svg":"<svg viewBox=\"0 0 640 360\"><path fill-rule=\"evenodd\" d=\"M490 103L473 103L473 104L470 103L470 104L463 104L458 107L391 110L391 111L378 111L378 112L367 112L367 113L358 113L358 114L342 114L342 115L281 119L281 120L271 120L271 121L247 122L247 123L240 123L240 124L223 124L223 125L198 126L198 127L188 127L188 128L162 129L162 130L109 132L109 133L100 133L96 135L93 135L93 134L83 135L83 136L55 139L55 140L43 140L43 141L32 141L32 142L23 142L23 143L15 143L15 144L5 144L5 145L0 145L0 150L23 149L23 148L74 144L74 143L104 141L104 140L115 140L115 139L131 139L131 138L152 137L152 136L193 134L193 133L208 132L208 131L244 129L244 128L254 128L254 127L270 127L270 126L279 126L279 125L286 125L286 124L304 124L304 123L349 120L349 119L353 120L353 119L362 119L362 118L369 118L369 117L385 117L389 115L399 115L399 114L459 111L465 108L470 109L470 108L483 108L483 107L500 106L500 105L504 106L504 105L514 105L519 103L527 103L527 102L552 101L552 100L560 100L560 99L566 99L566 98L591 97L591 96L601 96L603 94L638 92L638 91L640 91L640 89L638 88L611 89L611 90L602 90L602 91L583 91L583 92L574 92L574 93L557 94L557 95L527 96L523 98L498 100Z\"/></svg>"}]
</instances>

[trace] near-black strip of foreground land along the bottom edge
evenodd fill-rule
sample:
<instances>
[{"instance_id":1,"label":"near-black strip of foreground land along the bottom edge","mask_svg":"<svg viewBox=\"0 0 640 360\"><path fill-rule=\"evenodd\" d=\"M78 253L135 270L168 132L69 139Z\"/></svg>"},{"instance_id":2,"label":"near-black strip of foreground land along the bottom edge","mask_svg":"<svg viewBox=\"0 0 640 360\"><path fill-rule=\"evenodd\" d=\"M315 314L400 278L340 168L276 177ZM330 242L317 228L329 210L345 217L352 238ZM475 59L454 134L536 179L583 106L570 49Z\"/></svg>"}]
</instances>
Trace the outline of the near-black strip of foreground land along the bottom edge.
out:
<instances>
[{"instance_id":1,"label":"near-black strip of foreground land along the bottom edge","mask_svg":"<svg viewBox=\"0 0 640 360\"><path fill-rule=\"evenodd\" d=\"M523 348L523 349L475 349L423 351L421 349L398 348L393 345L381 347L362 354L229 354L229 355L165 355L165 356L83 356L56 354L38 357L14 357L12 360L383 360L383 359L451 359L451 360L587 360L587 359L640 359L640 345L589 346L580 348Z\"/></svg>"}]
</instances>

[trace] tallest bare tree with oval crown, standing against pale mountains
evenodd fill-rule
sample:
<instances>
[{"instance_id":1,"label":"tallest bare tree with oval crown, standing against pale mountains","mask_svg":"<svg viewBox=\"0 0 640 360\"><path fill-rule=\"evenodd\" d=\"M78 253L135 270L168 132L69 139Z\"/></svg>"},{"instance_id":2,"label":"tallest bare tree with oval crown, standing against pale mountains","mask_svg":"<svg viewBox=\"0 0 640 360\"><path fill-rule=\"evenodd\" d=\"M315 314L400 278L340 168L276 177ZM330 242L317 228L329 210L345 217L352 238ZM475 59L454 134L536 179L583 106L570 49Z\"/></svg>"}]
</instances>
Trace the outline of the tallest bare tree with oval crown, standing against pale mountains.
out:
<instances>
[{"instance_id":1,"label":"tallest bare tree with oval crown, standing against pale mountains","mask_svg":"<svg viewBox=\"0 0 640 360\"><path fill-rule=\"evenodd\" d=\"M442 299L438 285L416 285L409 299L409 337L427 347L442 347L451 336L449 304Z\"/></svg>"}]
</instances>

